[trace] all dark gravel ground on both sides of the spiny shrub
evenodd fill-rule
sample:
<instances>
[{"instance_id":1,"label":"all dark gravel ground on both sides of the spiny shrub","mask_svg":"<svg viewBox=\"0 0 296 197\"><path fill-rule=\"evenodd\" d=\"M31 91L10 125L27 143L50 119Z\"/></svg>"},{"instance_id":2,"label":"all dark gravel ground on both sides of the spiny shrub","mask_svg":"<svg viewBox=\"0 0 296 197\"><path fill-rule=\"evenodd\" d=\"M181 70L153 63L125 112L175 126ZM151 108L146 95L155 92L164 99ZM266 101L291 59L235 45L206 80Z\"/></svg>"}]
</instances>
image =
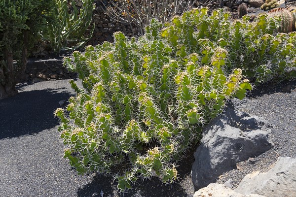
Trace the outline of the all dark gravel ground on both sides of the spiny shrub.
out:
<instances>
[{"instance_id":1,"label":"all dark gravel ground on both sides of the spiny shrub","mask_svg":"<svg viewBox=\"0 0 296 197\"><path fill-rule=\"evenodd\" d=\"M279 156L296 157L295 88L296 81L265 86L243 101L234 101L237 109L273 124L275 147L255 158L254 164L238 164L239 170L224 173L220 182L232 178L236 186L247 173L268 170ZM100 197L101 189L104 197L118 196L111 176L76 175L63 158L64 145L53 112L60 100L74 95L68 80L22 84L18 90L16 97L0 100L0 197ZM195 149L180 163L178 183L164 186L154 177L139 181L124 197L192 196L190 170Z\"/></svg>"}]
</instances>

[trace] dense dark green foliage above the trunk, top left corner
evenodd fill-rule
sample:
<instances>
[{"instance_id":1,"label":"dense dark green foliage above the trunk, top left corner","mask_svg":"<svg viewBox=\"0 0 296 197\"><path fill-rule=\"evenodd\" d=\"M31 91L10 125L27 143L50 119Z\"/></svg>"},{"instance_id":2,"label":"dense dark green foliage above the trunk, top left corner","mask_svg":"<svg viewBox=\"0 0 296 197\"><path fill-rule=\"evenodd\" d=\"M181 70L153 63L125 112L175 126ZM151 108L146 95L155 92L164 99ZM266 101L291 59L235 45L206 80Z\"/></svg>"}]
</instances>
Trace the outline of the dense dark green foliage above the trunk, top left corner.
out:
<instances>
[{"instance_id":1,"label":"dense dark green foliage above the trunk, top left corner","mask_svg":"<svg viewBox=\"0 0 296 197\"><path fill-rule=\"evenodd\" d=\"M22 31L30 31L30 43L38 39L47 24L55 22L55 0L2 0L0 2L0 51L22 48Z\"/></svg>"}]
</instances>

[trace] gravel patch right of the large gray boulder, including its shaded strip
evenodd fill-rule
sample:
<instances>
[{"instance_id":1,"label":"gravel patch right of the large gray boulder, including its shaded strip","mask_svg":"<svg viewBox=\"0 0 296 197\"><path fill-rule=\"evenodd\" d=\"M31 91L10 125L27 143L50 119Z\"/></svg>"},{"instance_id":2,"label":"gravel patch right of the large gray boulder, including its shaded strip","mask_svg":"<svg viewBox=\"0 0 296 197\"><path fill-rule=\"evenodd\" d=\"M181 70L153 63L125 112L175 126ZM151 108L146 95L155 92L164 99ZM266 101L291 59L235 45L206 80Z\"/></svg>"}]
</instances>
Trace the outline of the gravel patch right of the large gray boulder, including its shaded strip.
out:
<instances>
[{"instance_id":1,"label":"gravel patch right of the large gray boulder, including its shaded strip","mask_svg":"<svg viewBox=\"0 0 296 197\"><path fill-rule=\"evenodd\" d=\"M278 157L296 158L296 80L259 86L241 101L232 99L232 104L235 109L263 117L272 124L270 137L274 147L238 163L237 169L225 172L217 183L231 179L231 185L237 187L248 173L268 171Z\"/></svg>"}]
</instances>

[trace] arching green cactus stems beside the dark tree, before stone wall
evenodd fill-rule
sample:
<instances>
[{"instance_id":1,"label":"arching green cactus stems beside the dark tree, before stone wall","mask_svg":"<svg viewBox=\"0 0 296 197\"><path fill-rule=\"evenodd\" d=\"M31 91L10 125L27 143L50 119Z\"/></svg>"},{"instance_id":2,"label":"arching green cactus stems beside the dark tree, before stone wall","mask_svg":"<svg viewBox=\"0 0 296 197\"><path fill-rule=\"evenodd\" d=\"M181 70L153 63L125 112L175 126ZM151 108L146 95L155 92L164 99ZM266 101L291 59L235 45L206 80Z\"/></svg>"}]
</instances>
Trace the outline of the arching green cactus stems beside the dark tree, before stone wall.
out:
<instances>
[{"instance_id":1,"label":"arching green cactus stems beside the dark tree, before stone wall","mask_svg":"<svg viewBox=\"0 0 296 197\"><path fill-rule=\"evenodd\" d=\"M91 38L95 24L89 34L86 34L86 30L92 22L94 0L81 2L82 7L78 10L74 0L56 0L54 11L57 22L49 26L48 32L42 33L43 39L48 40L56 52L73 51L84 46Z\"/></svg>"}]
</instances>

